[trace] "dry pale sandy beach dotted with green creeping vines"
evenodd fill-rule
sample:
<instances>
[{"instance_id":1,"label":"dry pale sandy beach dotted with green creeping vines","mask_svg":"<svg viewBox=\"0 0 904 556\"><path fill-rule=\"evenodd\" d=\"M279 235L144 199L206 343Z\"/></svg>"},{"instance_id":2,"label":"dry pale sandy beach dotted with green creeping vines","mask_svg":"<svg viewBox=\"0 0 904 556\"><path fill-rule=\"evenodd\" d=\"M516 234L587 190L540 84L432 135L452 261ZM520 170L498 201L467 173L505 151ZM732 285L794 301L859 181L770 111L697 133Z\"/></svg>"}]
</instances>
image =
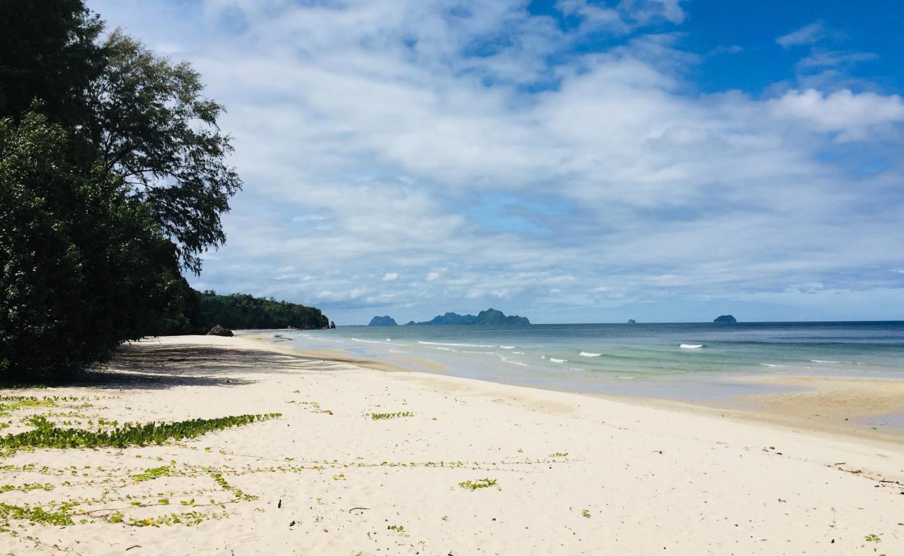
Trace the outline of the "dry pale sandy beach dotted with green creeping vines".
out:
<instances>
[{"instance_id":1,"label":"dry pale sandy beach dotted with green creeping vines","mask_svg":"<svg viewBox=\"0 0 904 556\"><path fill-rule=\"evenodd\" d=\"M0 392L38 398L5 398L4 433L282 413L7 453L0 554L904 553L894 438L354 363L185 336L128 346L96 383ZM37 506L74 524L15 511Z\"/></svg>"}]
</instances>

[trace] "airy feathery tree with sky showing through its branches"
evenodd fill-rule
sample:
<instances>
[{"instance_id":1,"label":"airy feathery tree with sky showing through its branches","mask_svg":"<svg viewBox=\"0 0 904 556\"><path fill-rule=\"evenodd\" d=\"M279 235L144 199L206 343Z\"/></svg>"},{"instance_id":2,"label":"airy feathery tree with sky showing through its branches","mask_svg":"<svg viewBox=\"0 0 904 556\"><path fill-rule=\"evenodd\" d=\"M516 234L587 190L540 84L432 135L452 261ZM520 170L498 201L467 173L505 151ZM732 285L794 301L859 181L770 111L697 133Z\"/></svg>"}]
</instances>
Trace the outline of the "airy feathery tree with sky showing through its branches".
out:
<instances>
[{"instance_id":1,"label":"airy feathery tree with sky showing through its branches","mask_svg":"<svg viewBox=\"0 0 904 556\"><path fill-rule=\"evenodd\" d=\"M116 30L103 71L87 90L89 118L79 135L108 171L123 177L176 243L184 265L226 239L221 214L241 188L225 164L230 137L217 126L223 107L202 97L201 76Z\"/></svg>"}]
</instances>

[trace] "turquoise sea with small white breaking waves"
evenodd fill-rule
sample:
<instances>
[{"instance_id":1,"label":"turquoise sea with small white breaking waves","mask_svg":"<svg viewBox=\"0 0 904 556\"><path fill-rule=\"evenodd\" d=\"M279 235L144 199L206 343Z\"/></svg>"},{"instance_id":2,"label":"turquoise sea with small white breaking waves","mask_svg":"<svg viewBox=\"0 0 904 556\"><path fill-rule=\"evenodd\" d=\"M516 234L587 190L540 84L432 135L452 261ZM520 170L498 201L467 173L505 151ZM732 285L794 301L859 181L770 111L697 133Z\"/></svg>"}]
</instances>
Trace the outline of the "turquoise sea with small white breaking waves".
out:
<instances>
[{"instance_id":1,"label":"turquoise sea with small white breaking waves","mask_svg":"<svg viewBox=\"0 0 904 556\"><path fill-rule=\"evenodd\" d=\"M679 400L776 391L738 380L761 373L904 378L904 322L340 326L272 334L299 349L339 349L418 370L428 369L412 360L494 382Z\"/></svg>"}]
</instances>

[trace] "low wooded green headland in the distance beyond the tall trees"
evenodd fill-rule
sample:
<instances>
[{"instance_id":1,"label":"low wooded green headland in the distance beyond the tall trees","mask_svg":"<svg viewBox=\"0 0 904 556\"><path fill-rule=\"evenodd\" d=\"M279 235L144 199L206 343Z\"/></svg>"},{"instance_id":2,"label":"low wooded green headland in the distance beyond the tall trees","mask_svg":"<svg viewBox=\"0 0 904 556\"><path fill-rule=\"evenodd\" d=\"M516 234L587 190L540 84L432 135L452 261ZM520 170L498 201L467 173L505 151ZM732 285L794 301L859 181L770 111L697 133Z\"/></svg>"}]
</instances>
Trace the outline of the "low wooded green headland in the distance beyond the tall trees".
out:
<instances>
[{"instance_id":1,"label":"low wooded green headland in the distance beyond the tall trees","mask_svg":"<svg viewBox=\"0 0 904 556\"><path fill-rule=\"evenodd\" d=\"M327 328L330 321L320 309L273 297L251 297L247 294L218 296L216 292L198 293L198 319L204 326L213 324L227 328Z\"/></svg>"}]
</instances>

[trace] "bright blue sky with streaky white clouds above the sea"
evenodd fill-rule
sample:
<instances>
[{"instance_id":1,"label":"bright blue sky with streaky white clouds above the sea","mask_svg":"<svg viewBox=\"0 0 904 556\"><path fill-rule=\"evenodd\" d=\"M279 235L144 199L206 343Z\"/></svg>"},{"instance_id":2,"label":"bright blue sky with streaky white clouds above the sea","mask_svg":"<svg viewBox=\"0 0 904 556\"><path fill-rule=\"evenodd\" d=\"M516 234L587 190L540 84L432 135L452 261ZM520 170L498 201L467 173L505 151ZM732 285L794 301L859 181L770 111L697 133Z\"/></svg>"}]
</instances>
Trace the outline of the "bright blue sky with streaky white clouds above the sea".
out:
<instances>
[{"instance_id":1,"label":"bright blue sky with streaky white clouds above the sea","mask_svg":"<svg viewBox=\"0 0 904 556\"><path fill-rule=\"evenodd\" d=\"M193 287L337 325L904 319L904 3L89 0L223 103Z\"/></svg>"}]
</instances>

